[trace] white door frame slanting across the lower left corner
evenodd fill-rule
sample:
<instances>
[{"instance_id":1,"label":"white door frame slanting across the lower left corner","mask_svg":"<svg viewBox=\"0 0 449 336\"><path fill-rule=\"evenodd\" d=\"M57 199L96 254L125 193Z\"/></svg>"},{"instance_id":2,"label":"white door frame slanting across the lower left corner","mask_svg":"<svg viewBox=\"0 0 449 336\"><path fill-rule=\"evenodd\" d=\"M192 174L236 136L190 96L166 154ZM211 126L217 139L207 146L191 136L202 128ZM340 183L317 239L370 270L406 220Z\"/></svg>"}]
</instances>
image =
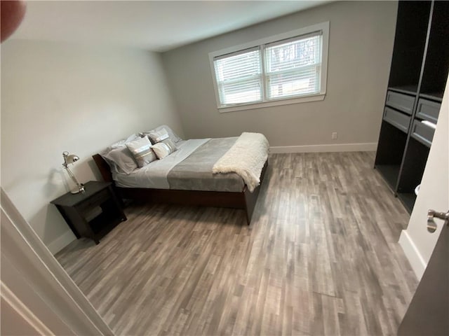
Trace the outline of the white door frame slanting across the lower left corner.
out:
<instances>
[{"instance_id":1,"label":"white door frame slanting across the lower left corner","mask_svg":"<svg viewBox=\"0 0 449 336\"><path fill-rule=\"evenodd\" d=\"M8 316L45 335L114 335L3 188L0 197L1 303ZM2 320L8 323L6 315Z\"/></svg>"}]
</instances>

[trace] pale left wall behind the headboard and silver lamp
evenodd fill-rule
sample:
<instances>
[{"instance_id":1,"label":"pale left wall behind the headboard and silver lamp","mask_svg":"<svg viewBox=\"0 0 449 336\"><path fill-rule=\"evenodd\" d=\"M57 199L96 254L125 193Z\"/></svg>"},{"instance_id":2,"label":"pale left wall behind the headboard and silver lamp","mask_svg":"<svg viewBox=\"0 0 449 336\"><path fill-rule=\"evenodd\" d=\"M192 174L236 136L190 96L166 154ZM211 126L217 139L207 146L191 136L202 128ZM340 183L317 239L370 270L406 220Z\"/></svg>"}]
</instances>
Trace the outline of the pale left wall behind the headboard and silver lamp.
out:
<instances>
[{"instance_id":1,"label":"pale left wall behind the headboard and silver lamp","mask_svg":"<svg viewBox=\"0 0 449 336\"><path fill-rule=\"evenodd\" d=\"M1 186L54 253L74 239L51 200L67 192L62 152L81 183L91 155L166 123L182 134L161 56L124 48L8 40L1 45Z\"/></svg>"}]
</instances>

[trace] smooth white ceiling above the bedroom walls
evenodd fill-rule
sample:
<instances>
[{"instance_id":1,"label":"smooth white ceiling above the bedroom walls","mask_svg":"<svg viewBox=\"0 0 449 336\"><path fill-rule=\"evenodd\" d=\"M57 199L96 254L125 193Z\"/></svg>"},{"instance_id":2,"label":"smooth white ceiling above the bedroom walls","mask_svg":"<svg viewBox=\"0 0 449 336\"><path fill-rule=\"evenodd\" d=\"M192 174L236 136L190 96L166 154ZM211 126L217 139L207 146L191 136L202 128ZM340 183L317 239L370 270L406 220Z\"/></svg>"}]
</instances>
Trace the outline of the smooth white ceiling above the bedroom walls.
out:
<instances>
[{"instance_id":1,"label":"smooth white ceiling above the bedroom walls","mask_svg":"<svg viewBox=\"0 0 449 336\"><path fill-rule=\"evenodd\" d=\"M11 38L163 52L328 1L28 1Z\"/></svg>"}]
</instances>

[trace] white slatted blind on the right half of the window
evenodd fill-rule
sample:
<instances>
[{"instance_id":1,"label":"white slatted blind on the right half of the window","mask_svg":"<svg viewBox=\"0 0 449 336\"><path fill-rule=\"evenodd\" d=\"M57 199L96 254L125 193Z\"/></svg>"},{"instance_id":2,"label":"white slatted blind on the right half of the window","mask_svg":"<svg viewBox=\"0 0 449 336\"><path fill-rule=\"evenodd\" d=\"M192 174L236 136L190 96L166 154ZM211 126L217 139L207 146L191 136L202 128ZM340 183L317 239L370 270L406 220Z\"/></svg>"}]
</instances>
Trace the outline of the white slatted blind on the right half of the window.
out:
<instances>
[{"instance_id":1,"label":"white slatted blind on the right half of the window","mask_svg":"<svg viewBox=\"0 0 449 336\"><path fill-rule=\"evenodd\" d=\"M320 92L321 31L264 45L267 99Z\"/></svg>"}]
</instances>

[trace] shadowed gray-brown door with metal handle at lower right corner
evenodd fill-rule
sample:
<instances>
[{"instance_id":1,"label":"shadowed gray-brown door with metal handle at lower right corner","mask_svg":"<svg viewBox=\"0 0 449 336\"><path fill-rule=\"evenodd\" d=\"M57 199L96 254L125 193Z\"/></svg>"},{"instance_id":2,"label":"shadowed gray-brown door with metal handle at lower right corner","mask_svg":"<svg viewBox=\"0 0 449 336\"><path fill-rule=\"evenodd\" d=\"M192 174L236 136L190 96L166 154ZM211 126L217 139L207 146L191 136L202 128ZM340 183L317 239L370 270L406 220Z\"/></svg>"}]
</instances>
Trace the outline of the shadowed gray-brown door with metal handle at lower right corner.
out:
<instances>
[{"instance_id":1,"label":"shadowed gray-brown door with metal handle at lower right corner","mask_svg":"<svg viewBox=\"0 0 449 336\"><path fill-rule=\"evenodd\" d=\"M449 335L449 228L448 221L436 223L441 234L398 335Z\"/></svg>"}]
</instances>

